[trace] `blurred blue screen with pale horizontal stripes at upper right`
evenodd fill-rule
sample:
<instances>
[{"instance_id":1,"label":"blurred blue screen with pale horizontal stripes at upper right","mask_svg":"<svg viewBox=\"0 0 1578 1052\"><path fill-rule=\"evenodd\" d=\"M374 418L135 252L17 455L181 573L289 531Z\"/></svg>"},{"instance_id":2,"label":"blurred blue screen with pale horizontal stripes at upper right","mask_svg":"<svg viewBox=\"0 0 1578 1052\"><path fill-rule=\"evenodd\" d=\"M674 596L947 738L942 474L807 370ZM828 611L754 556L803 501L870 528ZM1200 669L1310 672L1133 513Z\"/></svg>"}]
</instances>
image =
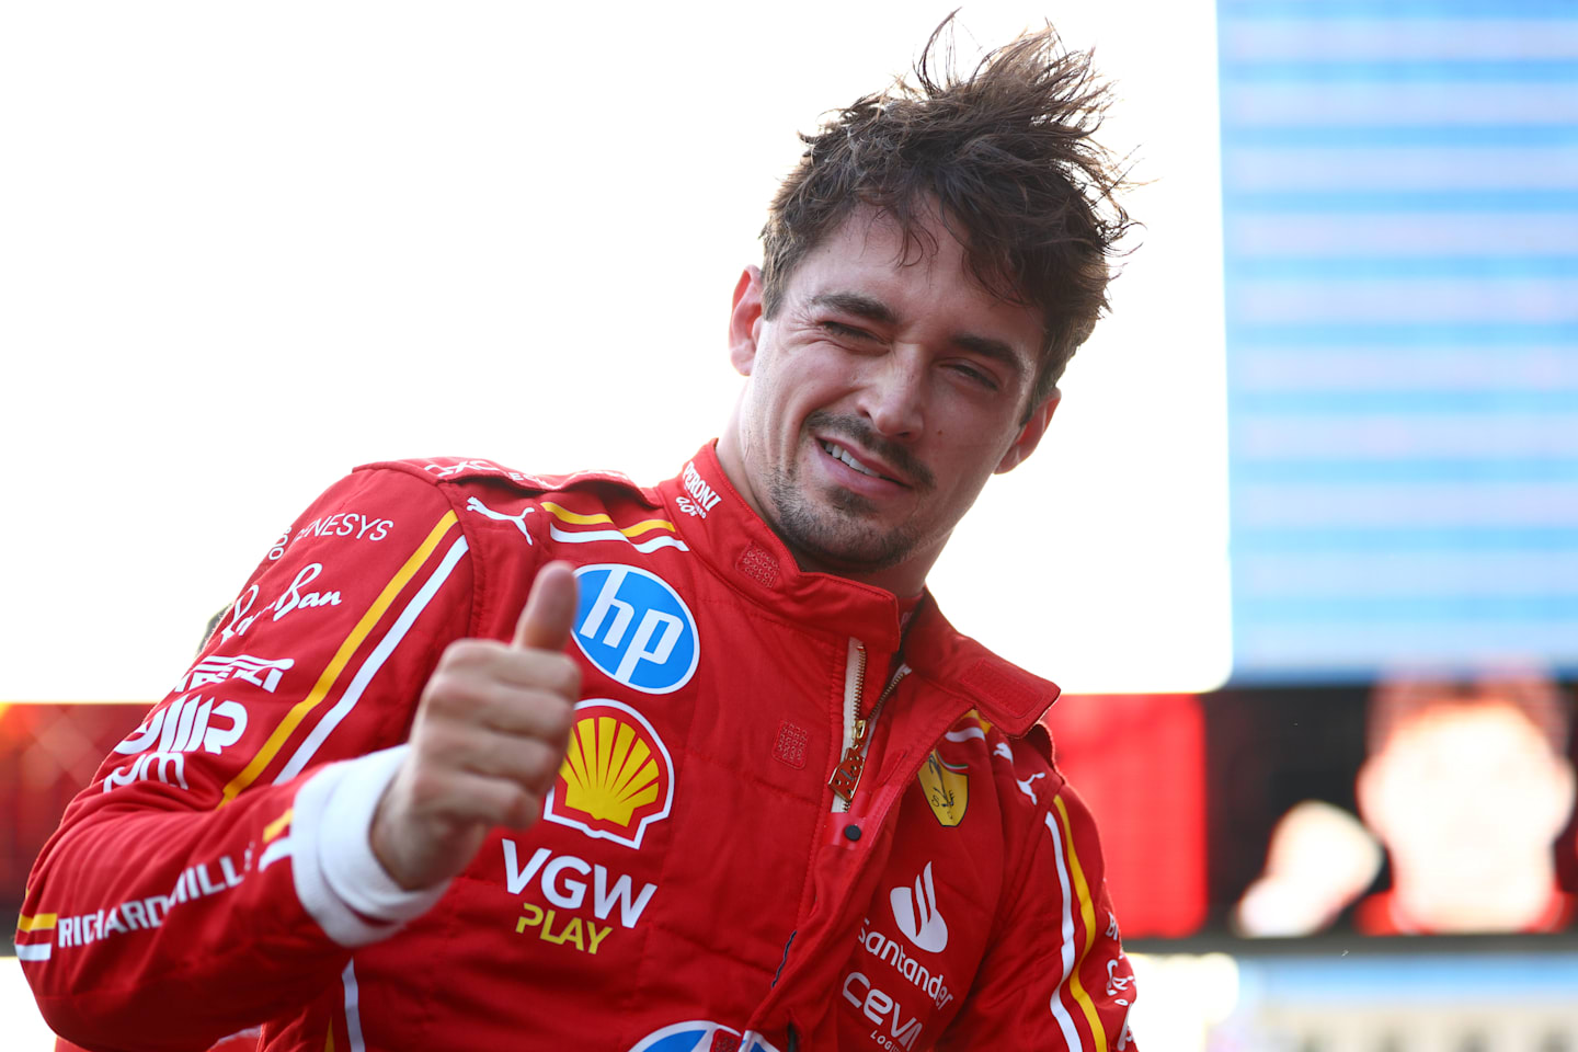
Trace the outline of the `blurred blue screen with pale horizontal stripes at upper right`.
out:
<instances>
[{"instance_id":1,"label":"blurred blue screen with pale horizontal stripes at upper right","mask_svg":"<svg viewBox=\"0 0 1578 1052\"><path fill-rule=\"evenodd\" d=\"M1218 3L1234 678L1578 667L1578 3Z\"/></svg>"}]
</instances>

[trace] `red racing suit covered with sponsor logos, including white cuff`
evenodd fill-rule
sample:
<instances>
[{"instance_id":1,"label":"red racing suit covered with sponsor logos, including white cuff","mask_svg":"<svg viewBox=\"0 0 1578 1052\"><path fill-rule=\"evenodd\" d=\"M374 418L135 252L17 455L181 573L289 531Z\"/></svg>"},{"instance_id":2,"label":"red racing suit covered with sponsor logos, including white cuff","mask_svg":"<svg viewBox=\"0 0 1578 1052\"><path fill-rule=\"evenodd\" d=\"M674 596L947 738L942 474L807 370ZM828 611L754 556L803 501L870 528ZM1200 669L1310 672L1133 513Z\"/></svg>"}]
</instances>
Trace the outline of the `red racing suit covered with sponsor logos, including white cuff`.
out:
<instances>
[{"instance_id":1,"label":"red racing suit covered with sponsor logos, including white cuff","mask_svg":"<svg viewBox=\"0 0 1578 1052\"><path fill-rule=\"evenodd\" d=\"M421 688L451 640L510 639L551 558L584 686L543 820L401 891L368 830ZM312 1052L1127 1052L1056 694L929 598L901 631L890 593L800 573L710 445L655 489L376 464L71 803L17 953L106 1052L257 1022Z\"/></svg>"}]
</instances>

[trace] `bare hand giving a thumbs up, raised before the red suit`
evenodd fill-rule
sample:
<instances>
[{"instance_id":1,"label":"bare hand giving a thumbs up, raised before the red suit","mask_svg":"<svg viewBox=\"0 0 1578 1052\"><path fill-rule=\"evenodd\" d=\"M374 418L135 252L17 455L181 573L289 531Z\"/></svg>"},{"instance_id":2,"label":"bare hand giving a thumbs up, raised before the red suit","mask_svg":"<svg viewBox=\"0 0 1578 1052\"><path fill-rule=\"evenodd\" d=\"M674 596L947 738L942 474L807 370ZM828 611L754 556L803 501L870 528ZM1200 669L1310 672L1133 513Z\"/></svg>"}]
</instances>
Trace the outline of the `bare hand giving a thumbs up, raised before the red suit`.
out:
<instances>
[{"instance_id":1,"label":"bare hand giving a thumbs up, raised before the red suit","mask_svg":"<svg viewBox=\"0 0 1578 1052\"><path fill-rule=\"evenodd\" d=\"M494 826L537 822L581 694L581 669L565 655L574 615L574 573L549 563L510 644L459 639L443 651L410 752L372 815L372 853L402 888L459 874Z\"/></svg>"}]
</instances>

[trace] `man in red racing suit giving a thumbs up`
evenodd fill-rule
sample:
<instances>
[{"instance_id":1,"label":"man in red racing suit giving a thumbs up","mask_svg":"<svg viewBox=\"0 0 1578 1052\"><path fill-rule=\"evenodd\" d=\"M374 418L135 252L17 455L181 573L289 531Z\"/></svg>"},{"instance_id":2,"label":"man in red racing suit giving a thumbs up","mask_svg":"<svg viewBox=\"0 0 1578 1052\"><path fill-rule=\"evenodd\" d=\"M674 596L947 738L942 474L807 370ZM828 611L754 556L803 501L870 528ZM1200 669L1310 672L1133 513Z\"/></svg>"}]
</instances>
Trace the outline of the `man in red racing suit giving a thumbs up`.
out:
<instances>
[{"instance_id":1,"label":"man in red racing suit giving a thumbs up","mask_svg":"<svg viewBox=\"0 0 1578 1052\"><path fill-rule=\"evenodd\" d=\"M1056 688L926 573L1127 226L1053 33L808 140L716 446L357 470L68 811L21 956L90 1049L1131 1047Z\"/></svg>"}]
</instances>

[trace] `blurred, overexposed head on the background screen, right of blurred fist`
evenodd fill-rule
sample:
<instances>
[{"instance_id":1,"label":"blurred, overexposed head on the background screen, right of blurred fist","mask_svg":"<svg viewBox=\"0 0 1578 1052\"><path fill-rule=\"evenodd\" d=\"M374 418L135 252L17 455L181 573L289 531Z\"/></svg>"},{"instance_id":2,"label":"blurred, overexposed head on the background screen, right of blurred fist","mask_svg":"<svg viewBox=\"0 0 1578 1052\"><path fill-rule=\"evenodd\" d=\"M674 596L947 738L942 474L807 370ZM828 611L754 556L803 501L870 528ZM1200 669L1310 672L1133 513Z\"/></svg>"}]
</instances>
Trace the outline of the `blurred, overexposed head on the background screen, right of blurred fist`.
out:
<instances>
[{"instance_id":1,"label":"blurred, overexposed head on the background screen, right of blurred fist","mask_svg":"<svg viewBox=\"0 0 1578 1052\"><path fill-rule=\"evenodd\" d=\"M1573 896L1556 852L1573 809L1570 700L1540 673L1398 678L1370 702L1359 812L1392 886L1359 902L1370 935L1556 932ZM1472 765L1474 776L1464 771Z\"/></svg>"}]
</instances>

